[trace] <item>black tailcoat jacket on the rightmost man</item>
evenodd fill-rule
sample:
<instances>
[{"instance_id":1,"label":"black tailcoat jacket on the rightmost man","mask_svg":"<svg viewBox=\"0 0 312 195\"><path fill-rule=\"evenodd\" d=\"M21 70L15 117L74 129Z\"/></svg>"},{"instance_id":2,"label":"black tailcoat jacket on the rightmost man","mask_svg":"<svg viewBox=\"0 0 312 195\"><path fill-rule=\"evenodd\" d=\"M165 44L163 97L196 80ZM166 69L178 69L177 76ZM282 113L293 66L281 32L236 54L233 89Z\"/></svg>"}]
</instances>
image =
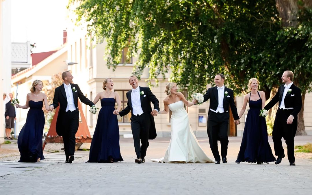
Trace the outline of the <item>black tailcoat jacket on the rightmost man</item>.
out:
<instances>
[{"instance_id":1,"label":"black tailcoat jacket on the rightmost man","mask_svg":"<svg viewBox=\"0 0 312 195\"><path fill-rule=\"evenodd\" d=\"M277 102L278 106L280 106L283 98L283 93L285 89L285 84L280 85L278 88L277 93L272 98L272 100L264 107L266 110L270 110ZM301 90L294 85L294 83L290 86L291 92L287 92L284 98L285 108L294 108L291 115L294 118L297 118L298 113L302 107L302 97L301 97Z\"/></svg>"}]
</instances>

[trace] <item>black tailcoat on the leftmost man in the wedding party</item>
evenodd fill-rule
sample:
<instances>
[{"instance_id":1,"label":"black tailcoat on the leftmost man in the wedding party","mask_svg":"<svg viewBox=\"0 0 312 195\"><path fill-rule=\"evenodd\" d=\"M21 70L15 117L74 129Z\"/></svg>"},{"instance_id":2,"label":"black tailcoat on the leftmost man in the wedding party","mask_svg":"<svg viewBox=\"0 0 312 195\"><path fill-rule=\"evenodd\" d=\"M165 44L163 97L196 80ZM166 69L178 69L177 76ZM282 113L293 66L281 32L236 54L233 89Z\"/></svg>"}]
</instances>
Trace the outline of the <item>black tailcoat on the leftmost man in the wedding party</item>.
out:
<instances>
[{"instance_id":1,"label":"black tailcoat on the leftmost man in the wedding party","mask_svg":"<svg viewBox=\"0 0 312 195\"><path fill-rule=\"evenodd\" d=\"M76 92L73 90L73 88L76 88ZM74 98L74 104L76 109L78 109L78 98L80 101L86 105L92 106L94 105L92 101L90 101L83 93L81 92L79 86L77 84L71 83L71 92L73 93L73 98ZM67 108L67 97L66 97L66 92L65 92L65 87L64 84L58 86L55 88L54 91L54 98L53 98L53 103L51 105L54 106L54 109L60 104L60 110L57 115L57 120L56 120L56 133L60 136L63 135L62 132L62 120L61 118L63 117L64 113L66 112ZM50 106L51 106L50 105ZM77 112L77 115L79 115L79 112Z\"/></svg>"}]
</instances>

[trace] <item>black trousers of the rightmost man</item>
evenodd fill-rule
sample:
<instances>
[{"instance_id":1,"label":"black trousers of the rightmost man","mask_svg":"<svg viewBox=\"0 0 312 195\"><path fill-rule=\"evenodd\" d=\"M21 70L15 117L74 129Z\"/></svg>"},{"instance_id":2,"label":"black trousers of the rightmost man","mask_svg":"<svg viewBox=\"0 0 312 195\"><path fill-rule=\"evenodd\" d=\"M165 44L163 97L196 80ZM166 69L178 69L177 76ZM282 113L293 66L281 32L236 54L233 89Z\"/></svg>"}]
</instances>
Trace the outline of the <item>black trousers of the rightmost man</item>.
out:
<instances>
[{"instance_id":1,"label":"black trousers of the rightmost man","mask_svg":"<svg viewBox=\"0 0 312 195\"><path fill-rule=\"evenodd\" d=\"M287 156L290 163L295 162L294 155L294 138L298 127L297 116L294 116L292 124L287 124L287 119L292 113L292 109L278 109L273 126L272 139L274 143L274 151L276 156L284 154L282 138L287 144Z\"/></svg>"}]
</instances>

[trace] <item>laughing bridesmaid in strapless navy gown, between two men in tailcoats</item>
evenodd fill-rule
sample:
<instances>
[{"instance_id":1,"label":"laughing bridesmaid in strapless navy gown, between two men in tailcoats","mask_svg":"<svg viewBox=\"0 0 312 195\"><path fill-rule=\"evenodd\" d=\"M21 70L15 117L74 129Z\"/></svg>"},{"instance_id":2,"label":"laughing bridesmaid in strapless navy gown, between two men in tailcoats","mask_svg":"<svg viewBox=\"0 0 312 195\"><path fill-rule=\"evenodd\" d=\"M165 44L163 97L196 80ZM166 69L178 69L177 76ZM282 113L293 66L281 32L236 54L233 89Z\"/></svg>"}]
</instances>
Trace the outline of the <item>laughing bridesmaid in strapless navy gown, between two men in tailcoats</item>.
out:
<instances>
[{"instance_id":1,"label":"laughing bridesmaid in strapless navy gown, between two men in tailcoats","mask_svg":"<svg viewBox=\"0 0 312 195\"><path fill-rule=\"evenodd\" d=\"M119 127L117 115L121 108L119 94L113 91L114 82L107 78L103 82L104 91L98 93L93 100L96 104L101 101L101 110L98 115L93 134L90 156L87 163L114 163L123 161L119 147ZM115 103L117 109L115 110Z\"/></svg>"}]
</instances>

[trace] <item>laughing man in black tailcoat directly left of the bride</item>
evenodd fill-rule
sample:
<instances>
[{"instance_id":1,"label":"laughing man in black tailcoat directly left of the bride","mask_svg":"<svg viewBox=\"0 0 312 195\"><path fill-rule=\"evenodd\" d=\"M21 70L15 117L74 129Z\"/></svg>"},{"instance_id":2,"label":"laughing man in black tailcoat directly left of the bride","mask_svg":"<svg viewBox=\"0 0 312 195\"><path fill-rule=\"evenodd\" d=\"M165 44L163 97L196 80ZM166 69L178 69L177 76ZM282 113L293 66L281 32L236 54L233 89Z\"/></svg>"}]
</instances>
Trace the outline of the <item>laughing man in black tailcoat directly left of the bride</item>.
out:
<instances>
[{"instance_id":1,"label":"laughing man in black tailcoat directly left of the bride","mask_svg":"<svg viewBox=\"0 0 312 195\"><path fill-rule=\"evenodd\" d=\"M137 158L136 163L145 163L146 149L149 147L149 139L155 139L156 128L154 116L159 111L159 101L151 92L149 87L140 87L139 80L136 76L130 76L129 83L132 89L126 93L128 103L124 110L119 112L120 116L127 115L131 110L131 130L134 141L134 150ZM151 102L154 105L152 111ZM140 139L142 145L140 146Z\"/></svg>"}]
</instances>

